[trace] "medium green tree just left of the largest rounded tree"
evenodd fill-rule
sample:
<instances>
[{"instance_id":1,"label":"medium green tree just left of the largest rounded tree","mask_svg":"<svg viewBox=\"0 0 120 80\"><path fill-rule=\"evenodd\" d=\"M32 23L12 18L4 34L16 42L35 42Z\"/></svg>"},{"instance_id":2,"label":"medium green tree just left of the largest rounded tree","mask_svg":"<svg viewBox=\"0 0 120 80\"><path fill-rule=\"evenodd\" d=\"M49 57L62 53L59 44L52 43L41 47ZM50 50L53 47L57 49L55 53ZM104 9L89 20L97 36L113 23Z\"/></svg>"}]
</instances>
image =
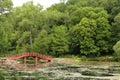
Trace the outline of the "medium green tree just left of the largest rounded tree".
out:
<instances>
[{"instance_id":1,"label":"medium green tree just left of the largest rounded tree","mask_svg":"<svg viewBox=\"0 0 120 80\"><path fill-rule=\"evenodd\" d=\"M57 26L50 34L50 50L54 55L60 55L69 51L69 36L65 26Z\"/></svg>"}]
</instances>

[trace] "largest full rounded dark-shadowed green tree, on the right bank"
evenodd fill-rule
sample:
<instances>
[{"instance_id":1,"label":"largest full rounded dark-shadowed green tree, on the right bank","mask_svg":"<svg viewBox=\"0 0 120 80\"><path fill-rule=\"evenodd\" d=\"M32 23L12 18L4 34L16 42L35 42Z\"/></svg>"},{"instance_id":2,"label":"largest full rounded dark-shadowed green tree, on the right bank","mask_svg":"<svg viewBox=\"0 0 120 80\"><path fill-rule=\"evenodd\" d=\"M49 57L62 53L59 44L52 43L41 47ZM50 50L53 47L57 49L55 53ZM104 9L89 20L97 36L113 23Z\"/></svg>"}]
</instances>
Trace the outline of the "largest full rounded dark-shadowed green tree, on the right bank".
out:
<instances>
[{"instance_id":1,"label":"largest full rounded dark-shadowed green tree, on the right bank","mask_svg":"<svg viewBox=\"0 0 120 80\"><path fill-rule=\"evenodd\" d=\"M91 53L99 55L102 51L107 52L111 32L106 11L102 8L85 7L76 13L76 18L79 16L80 23L71 31L73 48L79 48L80 53L85 55Z\"/></svg>"}]
</instances>

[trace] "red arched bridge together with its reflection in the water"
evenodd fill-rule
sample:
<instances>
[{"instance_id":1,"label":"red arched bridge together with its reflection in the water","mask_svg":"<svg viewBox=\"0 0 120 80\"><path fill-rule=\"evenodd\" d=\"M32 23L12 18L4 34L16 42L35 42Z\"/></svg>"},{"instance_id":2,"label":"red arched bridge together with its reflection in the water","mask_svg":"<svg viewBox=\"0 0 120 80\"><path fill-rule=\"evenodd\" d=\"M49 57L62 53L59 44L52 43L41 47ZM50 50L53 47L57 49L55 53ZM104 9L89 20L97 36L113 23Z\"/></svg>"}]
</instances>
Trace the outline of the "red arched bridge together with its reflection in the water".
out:
<instances>
[{"instance_id":1,"label":"red arched bridge together with its reflection in the water","mask_svg":"<svg viewBox=\"0 0 120 80\"><path fill-rule=\"evenodd\" d=\"M34 63L32 65L27 64L27 58L28 57L33 57L34 58ZM18 61L20 59L23 60L23 64L19 63L14 63L11 65L14 65L16 68L23 68L23 69L35 69L35 68L40 68L44 66L48 66L51 64L52 57L51 56L45 56L39 53L22 53L22 54L17 54L13 56L7 56L6 57L7 61ZM42 62L38 62L38 59L41 59Z\"/></svg>"}]
</instances>

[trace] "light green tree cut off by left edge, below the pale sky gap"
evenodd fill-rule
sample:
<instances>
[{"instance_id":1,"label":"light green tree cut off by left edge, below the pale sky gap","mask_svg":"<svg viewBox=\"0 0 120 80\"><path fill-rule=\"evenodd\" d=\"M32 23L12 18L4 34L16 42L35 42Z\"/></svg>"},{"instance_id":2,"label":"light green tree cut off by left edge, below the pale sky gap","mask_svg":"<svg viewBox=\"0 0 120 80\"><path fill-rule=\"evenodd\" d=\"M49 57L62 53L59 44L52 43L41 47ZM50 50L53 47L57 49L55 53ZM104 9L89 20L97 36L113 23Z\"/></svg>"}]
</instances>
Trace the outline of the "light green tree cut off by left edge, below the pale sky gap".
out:
<instances>
[{"instance_id":1,"label":"light green tree cut off by left edge, below the pale sky gap","mask_svg":"<svg viewBox=\"0 0 120 80\"><path fill-rule=\"evenodd\" d=\"M10 49L10 37L13 25L11 24L11 16L0 15L0 53L7 52Z\"/></svg>"}]
</instances>

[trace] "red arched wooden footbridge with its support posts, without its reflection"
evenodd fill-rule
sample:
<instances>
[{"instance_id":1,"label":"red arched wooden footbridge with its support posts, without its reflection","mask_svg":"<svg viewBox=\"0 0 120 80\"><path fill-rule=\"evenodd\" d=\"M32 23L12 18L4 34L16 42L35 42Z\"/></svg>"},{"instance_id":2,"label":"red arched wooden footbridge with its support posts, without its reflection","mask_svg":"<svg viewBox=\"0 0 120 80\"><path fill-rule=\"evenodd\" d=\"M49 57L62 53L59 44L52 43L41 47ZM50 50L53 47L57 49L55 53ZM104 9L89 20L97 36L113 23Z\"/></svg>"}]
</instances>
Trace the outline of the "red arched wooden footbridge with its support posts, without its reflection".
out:
<instances>
[{"instance_id":1,"label":"red arched wooden footbridge with its support posts, without its reflection","mask_svg":"<svg viewBox=\"0 0 120 80\"><path fill-rule=\"evenodd\" d=\"M39 53L22 53L22 54L17 54L17 55L13 55L13 56L7 56L6 59L7 60L19 60L19 59L23 59L23 64L26 64L27 61L27 57L34 57L34 64L38 64L38 59L42 59L42 60L47 60L48 62L51 62L52 57L51 56L45 56Z\"/></svg>"}]
</instances>

